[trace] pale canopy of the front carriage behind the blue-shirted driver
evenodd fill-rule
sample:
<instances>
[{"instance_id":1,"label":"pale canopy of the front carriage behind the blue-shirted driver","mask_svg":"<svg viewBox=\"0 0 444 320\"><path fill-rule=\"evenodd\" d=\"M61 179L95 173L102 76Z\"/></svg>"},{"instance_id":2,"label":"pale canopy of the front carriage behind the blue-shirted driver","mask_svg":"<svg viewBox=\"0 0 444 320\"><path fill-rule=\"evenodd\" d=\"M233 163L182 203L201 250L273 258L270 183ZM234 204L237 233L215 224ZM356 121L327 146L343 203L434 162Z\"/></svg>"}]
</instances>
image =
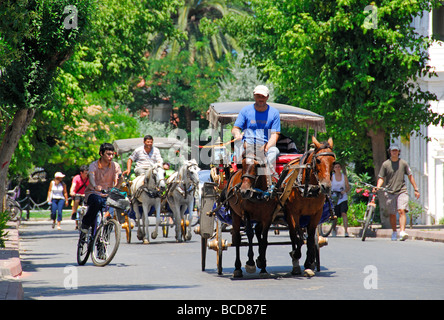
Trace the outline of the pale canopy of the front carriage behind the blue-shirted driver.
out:
<instances>
[{"instance_id":1,"label":"pale canopy of the front carriage behind the blue-shirted driver","mask_svg":"<svg viewBox=\"0 0 444 320\"><path fill-rule=\"evenodd\" d=\"M240 110L254 101L215 102L210 105L207 120L213 127L234 122ZM301 128L311 128L318 132L326 132L324 117L309 110L286 104L268 102L268 105L279 111L281 122Z\"/></svg>"}]
</instances>

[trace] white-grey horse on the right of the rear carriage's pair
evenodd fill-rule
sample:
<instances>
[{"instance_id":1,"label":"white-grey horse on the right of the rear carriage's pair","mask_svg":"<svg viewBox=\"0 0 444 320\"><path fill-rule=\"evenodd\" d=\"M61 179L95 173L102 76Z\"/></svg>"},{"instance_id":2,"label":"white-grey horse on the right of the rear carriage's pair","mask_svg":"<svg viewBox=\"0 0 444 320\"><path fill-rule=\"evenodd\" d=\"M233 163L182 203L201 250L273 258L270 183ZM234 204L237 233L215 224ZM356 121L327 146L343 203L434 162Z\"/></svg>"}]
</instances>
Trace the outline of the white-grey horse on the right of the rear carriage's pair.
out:
<instances>
[{"instance_id":1,"label":"white-grey horse on the right of the rear carriage's pair","mask_svg":"<svg viewBox=\"0 0 444 320\"><path fill-rule=\"evenodd\" d=\"M182 237L185 240L191 239L191 223L187 226L184 213L188 209L188 216L192 217L194 192L199 184L199 171L200 168L197 166L196 160L185 161L179 171L172 174L167 180L167 202L173 212L176 242L182 242ZM185 235L182 234L182 221L184 230L186 230Z\"/></svg>"}]
</instances>

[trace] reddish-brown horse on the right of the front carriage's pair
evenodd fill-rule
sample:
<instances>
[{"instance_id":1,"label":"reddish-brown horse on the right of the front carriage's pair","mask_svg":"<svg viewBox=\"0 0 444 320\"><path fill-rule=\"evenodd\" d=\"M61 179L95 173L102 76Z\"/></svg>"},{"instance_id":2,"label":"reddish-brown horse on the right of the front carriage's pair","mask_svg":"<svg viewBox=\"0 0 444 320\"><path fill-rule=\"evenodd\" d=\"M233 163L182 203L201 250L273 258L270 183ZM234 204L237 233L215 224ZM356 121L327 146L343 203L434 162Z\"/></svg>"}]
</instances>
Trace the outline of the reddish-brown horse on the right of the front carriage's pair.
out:
<instances>
[{"instance_id":1,"label":"reddish-brown horse on the right of the front carriage's pair","mask_svg":"<svg viewBox=\"0 0 444 320\"><path fill-rule=\"evenodd\" d=\"M326 195L331 191L330 174L335 161L332 138L323 144L319 143L315 137L312 138L312 141L315 149L291 163L296 167L299 165L299 168L291 169L287 176L293 173L298 174L298 178L284 206L292 243L292 251L290 252L293 262L292 274L301 273L299 258L304 241L299 219L303 215L310 216L307 227L307 258L304 263L304 274L310 277L314 276L315 269L316 227L322 216ZM292 170L296 170L296 172L292 172Z\"/></svg>"}]
</instances>

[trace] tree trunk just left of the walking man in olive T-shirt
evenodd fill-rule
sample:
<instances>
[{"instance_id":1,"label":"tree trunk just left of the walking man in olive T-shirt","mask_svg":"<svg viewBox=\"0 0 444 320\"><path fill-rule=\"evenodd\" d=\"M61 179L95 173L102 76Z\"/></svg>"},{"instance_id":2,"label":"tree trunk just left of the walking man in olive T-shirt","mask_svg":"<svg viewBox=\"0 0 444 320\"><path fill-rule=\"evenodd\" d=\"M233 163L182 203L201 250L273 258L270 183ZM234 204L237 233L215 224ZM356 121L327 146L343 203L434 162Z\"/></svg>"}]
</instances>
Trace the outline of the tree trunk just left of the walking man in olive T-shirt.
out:
<instances>
[{"instance_id":1,"label":"tree trunk just left of the walking man in olive T-shirt","mask_svg":"<svg viewBox=\"0 0 444 320\"><path fill-rule=\"evenodd\" d=\"M370 125L373 127L374 124ZM385 146L385 131L381 128L376 130L369 130L367 135L372 140L372 154L373 154L373 165L375 170L375 178L378 180L379 170L381 169L382 163L387 159L386 156L386 146ZM389 215L386 213L385 203L386 199L384 197L384 192L378 191L379 207L381 213L381 224L383 229L391 228Z\"/></svg>"}]
</instances>

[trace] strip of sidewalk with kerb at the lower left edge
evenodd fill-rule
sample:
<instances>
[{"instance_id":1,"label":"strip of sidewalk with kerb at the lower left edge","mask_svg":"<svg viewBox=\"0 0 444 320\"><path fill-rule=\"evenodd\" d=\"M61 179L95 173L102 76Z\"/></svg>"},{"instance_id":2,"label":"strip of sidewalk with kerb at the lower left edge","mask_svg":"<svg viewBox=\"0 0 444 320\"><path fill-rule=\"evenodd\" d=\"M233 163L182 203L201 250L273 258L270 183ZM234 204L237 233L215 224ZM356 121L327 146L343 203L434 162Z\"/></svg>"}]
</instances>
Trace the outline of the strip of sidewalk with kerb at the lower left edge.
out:
<instances>
[{"instance_id":1,"label":"strip of sidewalk with kerb at the lower left edge","mask_svg":"<svg viewBox=\"0 0 444 320\"><path fill-rule=\"evenodd\" d=\"M0 249L0 300L23 300L22 265L16 222L8 222L5 248Z\"/></svg>"}]
</instances>

